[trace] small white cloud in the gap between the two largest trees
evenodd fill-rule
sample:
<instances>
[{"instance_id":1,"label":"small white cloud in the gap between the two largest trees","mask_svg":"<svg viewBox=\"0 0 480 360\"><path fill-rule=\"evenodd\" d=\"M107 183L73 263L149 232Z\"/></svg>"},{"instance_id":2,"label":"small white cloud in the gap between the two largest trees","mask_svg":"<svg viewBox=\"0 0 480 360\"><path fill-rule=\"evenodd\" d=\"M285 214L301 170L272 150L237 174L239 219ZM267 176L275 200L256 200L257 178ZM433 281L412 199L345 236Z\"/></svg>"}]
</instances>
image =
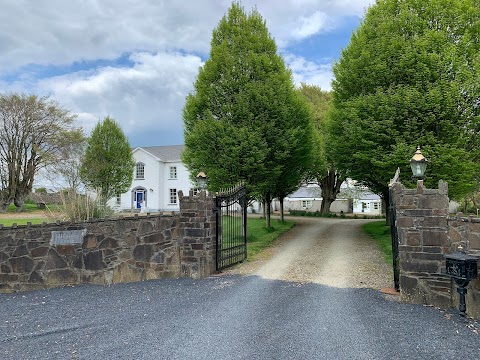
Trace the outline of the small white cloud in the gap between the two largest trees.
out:
<instances>
[{"instance_id":1,"label":"small white cloud in the gap between the two largest trees","mask_svg":"<svg viewBox=\"0 0 480 360\"><path fill-rule=\"evenodd\" d=\"M309 85L317 85L322 90L331 90L333 79L331 63L315 63L292 54L285 55L284 59L287 66L292 70L296 85L303 82Z\"/></svg>"}]
</instances>

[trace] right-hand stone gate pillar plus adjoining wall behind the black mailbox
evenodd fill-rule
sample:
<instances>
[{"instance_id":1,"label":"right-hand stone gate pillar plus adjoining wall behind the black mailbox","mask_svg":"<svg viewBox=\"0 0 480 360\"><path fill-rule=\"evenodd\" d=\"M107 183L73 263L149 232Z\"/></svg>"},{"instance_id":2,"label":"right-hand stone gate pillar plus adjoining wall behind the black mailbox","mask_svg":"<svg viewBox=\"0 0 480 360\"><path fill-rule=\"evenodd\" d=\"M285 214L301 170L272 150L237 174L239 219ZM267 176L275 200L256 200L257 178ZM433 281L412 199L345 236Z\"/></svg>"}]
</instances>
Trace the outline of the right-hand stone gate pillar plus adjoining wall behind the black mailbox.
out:
<instances>
[{"instance_id":1,"label":"right-hand stone gate pillar plus adjoining wall behind the black mailbox","mask_svg":"<svg viewBox=\"0 0 480 360\"><path fill-rule=\"evenodd\" d=\"M461 214L449 218L447 183L426 189L393 185L399 239L400 293L405 302L439 307L458 307L454 281L445 275L445 255L462 245L467 253L480 256L480 222ZM467 312L480 317L480 282L468 287Z\"/></svg>"}]
</instances>

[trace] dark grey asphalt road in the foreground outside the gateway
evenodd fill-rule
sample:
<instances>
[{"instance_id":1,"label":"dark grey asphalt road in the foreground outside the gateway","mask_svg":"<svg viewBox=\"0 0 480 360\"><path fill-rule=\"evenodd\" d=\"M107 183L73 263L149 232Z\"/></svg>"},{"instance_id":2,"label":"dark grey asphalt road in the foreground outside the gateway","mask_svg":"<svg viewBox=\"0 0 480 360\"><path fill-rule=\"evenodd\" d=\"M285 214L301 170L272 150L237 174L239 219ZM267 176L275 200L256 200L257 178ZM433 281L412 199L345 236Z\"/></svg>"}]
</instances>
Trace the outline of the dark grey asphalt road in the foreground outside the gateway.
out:
<instances>
[{"instance_id":1,"label":"dark grey asphalt road in the foreground outside the gateway","mask_svg":"<svg viewBox=\"0 0 480 360\"><path fill-rule=\"evenodd\" d=\"M0 359L478 359L475 331L378 290L260 275L0 294Z\"/></svg>"}]
</instances>

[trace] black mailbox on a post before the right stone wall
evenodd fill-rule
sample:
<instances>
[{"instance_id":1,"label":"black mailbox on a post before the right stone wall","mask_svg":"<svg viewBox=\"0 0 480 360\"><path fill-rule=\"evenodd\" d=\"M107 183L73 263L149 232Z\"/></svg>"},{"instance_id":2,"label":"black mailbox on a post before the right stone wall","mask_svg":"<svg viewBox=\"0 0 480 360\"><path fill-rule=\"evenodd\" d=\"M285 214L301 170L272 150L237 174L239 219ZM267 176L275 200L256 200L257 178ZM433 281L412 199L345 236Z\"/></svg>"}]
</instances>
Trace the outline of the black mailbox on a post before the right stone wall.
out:
<instances>
[{"instance_id":1,"label":"black mailbox on a post before the right stone wall","mask_svg":"<svg viewBox=\"0 0 480 360\"><path fill-rule=\"evenodd\" d=\"M457 292L460 295L460 315L465 316L467 305L465 294L470 280L477 278L477 258L465 254L462 247L453 254L445 255L447 275L451 276L458 285Z\"/></svg>"}]
</instances>

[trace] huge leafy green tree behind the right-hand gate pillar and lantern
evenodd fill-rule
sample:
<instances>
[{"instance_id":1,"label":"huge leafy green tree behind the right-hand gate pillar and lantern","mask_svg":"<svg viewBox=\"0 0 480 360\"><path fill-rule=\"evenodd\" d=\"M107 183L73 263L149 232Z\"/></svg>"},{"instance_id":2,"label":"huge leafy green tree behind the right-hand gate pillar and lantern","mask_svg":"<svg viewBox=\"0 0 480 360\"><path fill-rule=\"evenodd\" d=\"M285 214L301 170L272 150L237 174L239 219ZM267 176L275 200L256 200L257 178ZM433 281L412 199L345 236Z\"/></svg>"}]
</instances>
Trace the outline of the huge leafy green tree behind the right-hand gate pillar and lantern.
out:
<instances>
[{"instance_id":1,"label":"huge leafy green tree behind the right-hand gate pillar and lantern","mask_svg":"<svg viewBox=\"0 0 480 360\"><path fill-rule=\"evenodd\" d=\"M334 65L337 168L388 200L418 145L426 185L475 189L480 147L480 8L474 0L380 0ZM408 174L408 175L407 175ZM410 183L412 185L412 183ZM388 216L387 216L388 218Z\"/></svg>"}]
</instances>

